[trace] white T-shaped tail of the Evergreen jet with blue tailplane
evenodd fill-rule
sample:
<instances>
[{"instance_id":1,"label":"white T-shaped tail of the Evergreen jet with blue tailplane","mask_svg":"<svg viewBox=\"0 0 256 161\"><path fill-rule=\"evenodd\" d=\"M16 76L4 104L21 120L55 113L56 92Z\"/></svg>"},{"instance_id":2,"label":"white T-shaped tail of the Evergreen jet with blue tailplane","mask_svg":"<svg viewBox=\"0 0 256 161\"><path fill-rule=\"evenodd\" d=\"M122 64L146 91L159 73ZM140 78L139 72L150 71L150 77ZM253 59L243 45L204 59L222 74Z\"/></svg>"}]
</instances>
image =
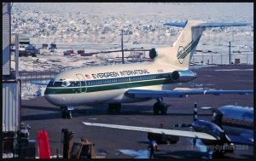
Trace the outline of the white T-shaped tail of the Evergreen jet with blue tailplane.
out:
<instances>
[{"instance_id":1,"label":"white T-shaped tail of the Evergreen jet with blue tailplane","mask_svg":"<svg viewBox=\"0 0 256 161\"><path fill-rule=\"evenodd\" d=\"M221 26L247 26L247 23L206 23L201 20L188 20L186 22L166 23L166 26L183 27L183 31L177 37L172 47L157 49L159 57L156 61L161 63L168 63L172 66L180 67L180 69L187 70L189 68L189 61L195 53L197 44L200 41L202 32L207 27L221 27Z\"/></svg>"}]
</instances>

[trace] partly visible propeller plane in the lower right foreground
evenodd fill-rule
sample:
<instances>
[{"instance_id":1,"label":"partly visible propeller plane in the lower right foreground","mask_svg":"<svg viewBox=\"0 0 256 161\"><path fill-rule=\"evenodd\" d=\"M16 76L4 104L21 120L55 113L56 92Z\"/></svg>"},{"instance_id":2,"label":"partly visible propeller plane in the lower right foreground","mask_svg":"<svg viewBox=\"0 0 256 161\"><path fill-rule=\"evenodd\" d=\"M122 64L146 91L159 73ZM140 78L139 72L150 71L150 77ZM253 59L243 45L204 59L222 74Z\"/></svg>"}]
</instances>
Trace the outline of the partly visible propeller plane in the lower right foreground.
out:
<instances>
[{"instance_id":1,"label":"partly visible propeller plane in the lower right foreground","mask_svg":"<svg viewBox=\"0 0 256 161\"><path fill-rule=\"evenodd\" d=\"M212 158L222 157L225 152L233 152L234 145L253 146L253 107L221 106L212 109L212 120L197 119L197 108L194 107L194 122L192 124L176 124L175 127L192 127L193 131L177 129L156 129L117 124L85 123L88 126L98 126L113 129L128 129L160 135L174 135L201 139L202 143L210 147ZM233 147L232 147L233 146ZM215 148L216 147L216 148Z\"/></svg>"}]
</instances>

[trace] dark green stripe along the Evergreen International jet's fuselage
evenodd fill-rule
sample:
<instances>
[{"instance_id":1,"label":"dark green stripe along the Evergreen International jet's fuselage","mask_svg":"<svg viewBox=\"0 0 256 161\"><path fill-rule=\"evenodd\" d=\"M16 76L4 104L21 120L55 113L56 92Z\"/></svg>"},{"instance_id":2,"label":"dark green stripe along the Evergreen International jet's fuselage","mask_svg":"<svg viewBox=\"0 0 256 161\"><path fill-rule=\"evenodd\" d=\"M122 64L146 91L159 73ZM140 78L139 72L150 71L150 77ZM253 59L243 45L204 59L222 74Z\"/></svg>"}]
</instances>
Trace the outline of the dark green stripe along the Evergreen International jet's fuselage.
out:
<instances>
[{"instance_id":1,"label":"dark green stripe along the Evergreen International jet's fuselage","mask_svg":"<svg viewBox=\"0 0 256 161\"><path fill-rule=\"evenodd\" d=\"M55 95L55 94L79 94L82 92L91 93L91 92L100 92L106 90L114 90L114 89L131 89L136 87L144 87L151 85L160 85L160 84L168 84L173 83L172 79L154 79L154 80L146 80L146 81L137 81L137 82L129 82L129 83L112 83L112 84L102 84L96 86L83 86L83 87L50 87L45 89L44 95Z\"/></svg>"}]
</instances>

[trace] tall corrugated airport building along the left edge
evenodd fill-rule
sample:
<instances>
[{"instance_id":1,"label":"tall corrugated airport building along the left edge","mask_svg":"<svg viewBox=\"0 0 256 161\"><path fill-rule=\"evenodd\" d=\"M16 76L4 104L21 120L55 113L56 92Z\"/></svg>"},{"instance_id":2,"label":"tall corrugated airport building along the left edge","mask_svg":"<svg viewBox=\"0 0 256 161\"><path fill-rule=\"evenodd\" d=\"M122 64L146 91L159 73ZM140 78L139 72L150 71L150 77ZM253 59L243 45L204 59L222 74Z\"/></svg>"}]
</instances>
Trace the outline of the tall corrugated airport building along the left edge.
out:
<instances>
[{"instance_id":1,"label":"tall corrugated airport building along the left edge","mask_svg":"<svg viewBox=\"0 0 256 161\"><path fill-rule=\"evenodd\" d=\"M35 155L35 143L28 141L27 128L21 120L21 80L19 79L19 36L15 36L15 70L11 70L11 9L13 3L3 3L3 158L26 158ZM32 148L27 148L27 147ZM27 153L31 151L30 153Z\"/></svg>"}]
</instances>

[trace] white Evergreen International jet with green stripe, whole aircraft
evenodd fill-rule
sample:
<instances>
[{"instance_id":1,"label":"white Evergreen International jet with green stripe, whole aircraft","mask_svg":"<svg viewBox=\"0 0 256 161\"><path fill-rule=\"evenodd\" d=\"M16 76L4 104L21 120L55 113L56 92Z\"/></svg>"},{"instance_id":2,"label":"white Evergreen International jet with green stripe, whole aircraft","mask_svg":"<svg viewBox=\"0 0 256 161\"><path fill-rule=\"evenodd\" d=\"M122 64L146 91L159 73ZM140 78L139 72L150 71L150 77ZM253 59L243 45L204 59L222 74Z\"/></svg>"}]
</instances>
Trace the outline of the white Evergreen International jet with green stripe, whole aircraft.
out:
<instances>
[{"instance_id":1,"label":"white Evergreen International jet with green stripe, whole aircraft","mask_svg":"<svg viewBox=\"0 0 256 161\"><path fill-rule=\"evenodd\" d=\"M173 90L181 83L196 78L196 73L189 70L189 61L207 27L248 24L188 20L165 25L183 27L183 31L172 47L150 49L149 57L153 61L81 67L58 73L48 84L44 84L47 85L45 99L55 106L61 106L62 118L72 118L73 106L106 103L108 112L119 112L121 103L155 99L154 114L166 114L167 105L163 97L253 93L253 90Z\"/></svg>"}]
</instances>

